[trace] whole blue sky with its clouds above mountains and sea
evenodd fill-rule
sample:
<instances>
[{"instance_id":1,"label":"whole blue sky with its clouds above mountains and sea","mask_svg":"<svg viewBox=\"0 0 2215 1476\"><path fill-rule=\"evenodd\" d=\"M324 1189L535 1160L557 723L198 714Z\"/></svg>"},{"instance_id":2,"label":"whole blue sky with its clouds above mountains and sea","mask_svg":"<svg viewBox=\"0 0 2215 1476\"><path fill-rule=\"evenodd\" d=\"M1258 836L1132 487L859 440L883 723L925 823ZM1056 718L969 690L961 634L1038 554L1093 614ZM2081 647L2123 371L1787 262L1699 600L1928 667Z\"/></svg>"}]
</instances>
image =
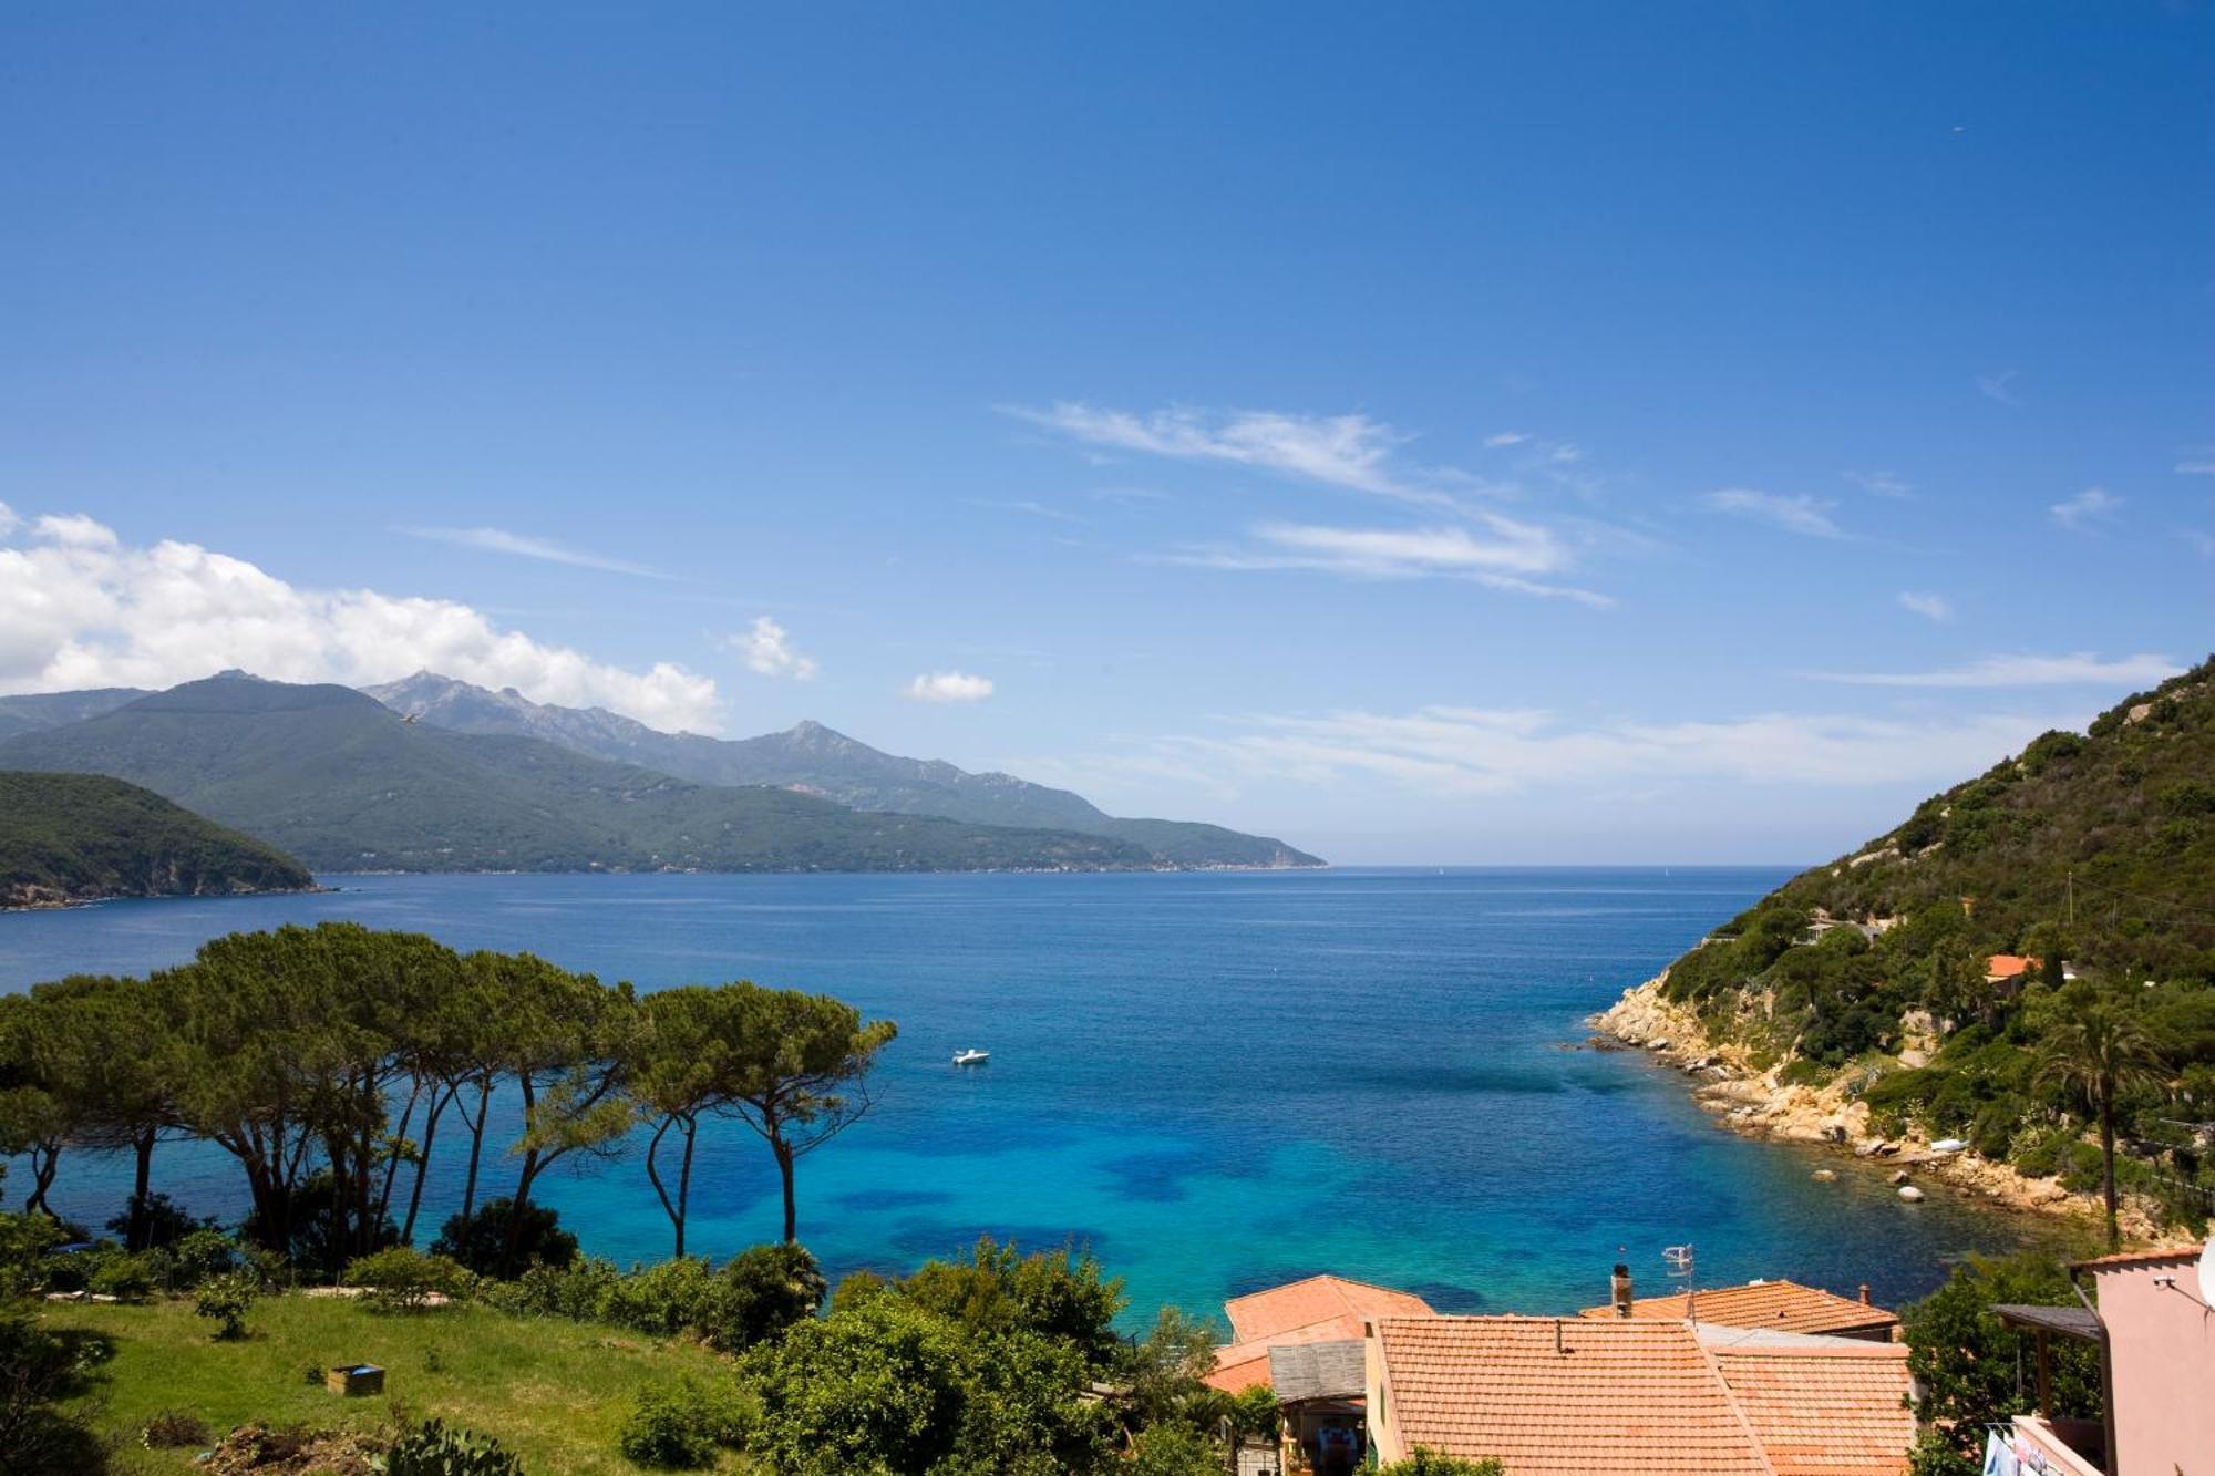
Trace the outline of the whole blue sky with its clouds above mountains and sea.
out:
<instances>
[{"instance_id":1,"label":"whole blue sky with its clouds above mountains and sea","mask_svg":"<svg viewBox=\"0 0 2215 1476\"><path fill-rule=\"evenodd\" d=\"M2215 645L2204 4L20 4L0 129L0 689L1814 860Z\"/></svg>"}]
</instances>

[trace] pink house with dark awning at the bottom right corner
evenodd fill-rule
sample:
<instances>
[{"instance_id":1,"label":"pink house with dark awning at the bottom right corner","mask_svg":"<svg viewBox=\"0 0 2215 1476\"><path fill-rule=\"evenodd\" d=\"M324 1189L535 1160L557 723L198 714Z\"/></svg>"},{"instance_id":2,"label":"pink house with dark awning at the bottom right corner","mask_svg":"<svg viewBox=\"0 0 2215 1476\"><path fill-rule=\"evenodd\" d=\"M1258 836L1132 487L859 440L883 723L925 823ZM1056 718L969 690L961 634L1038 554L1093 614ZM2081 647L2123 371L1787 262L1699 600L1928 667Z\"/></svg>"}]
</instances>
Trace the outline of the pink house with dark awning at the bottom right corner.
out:
<instances>
[{"instance_id":1,"label":"pink house with dark awning at the bottom right corner","mask_svg":"<svg viewBox=\"0 0 2215 1476\"><path fill-rule=\"evenodd\" d=\"M2018 1414L2005 1456L2047 1476L2215 1474L2215 1308L2199 1296L2199 1246L2078 1261L2098 1310L1998 1305L2000 1321L2038 1334L2038 1412ZM2056 1336L2100 1347L2106 1412L2058 1418L2047 1392ZM1998 1436L1996 1436L1998 1443Z\"/></svg>"}]
</instances>

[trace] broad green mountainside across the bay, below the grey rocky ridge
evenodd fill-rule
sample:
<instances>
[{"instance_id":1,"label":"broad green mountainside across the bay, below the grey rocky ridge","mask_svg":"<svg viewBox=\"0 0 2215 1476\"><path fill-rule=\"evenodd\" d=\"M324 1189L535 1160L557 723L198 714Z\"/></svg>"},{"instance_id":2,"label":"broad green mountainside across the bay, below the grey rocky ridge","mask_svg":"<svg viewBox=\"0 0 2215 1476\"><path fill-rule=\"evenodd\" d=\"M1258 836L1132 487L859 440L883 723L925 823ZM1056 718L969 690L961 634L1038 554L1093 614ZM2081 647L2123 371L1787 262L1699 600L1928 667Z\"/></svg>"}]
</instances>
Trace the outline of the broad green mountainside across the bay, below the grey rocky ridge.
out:
<instances>
[{"instance_id":1,"label":"broad green mountainside across the bay, below the grey rocky ridge","mask_svg":"<svg viewBox=\"0 0 2215 1476\"><path fill-rule=\"evenodd\" d=\"M977 871L1147 867L1068 831L857 813L536 738L408 722L348 687L219 676L0 742L0 767L111 773L317 871Z\"/></svg>"}]
</instances>

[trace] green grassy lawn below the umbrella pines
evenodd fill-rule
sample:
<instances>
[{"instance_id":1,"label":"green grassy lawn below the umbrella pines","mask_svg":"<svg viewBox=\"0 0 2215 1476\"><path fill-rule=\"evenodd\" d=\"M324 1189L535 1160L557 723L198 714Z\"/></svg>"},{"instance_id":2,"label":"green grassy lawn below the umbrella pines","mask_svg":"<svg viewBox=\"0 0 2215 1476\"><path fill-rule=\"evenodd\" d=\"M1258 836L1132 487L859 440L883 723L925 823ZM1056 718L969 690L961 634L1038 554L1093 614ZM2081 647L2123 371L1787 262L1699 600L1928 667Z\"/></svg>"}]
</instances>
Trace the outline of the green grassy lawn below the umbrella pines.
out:
<instances>
[{"instance_id":1,"label":"green grassy lawn below the umbrella pines","mask_svg":"<svg viewBox=\"0 0 2215 1476\"><path fill-rule=\"evenodd\" d=\"M55 1330L82 1328L115 1343L100 1387L84 1401L124 1445L124 1472L193 1469L190 1449L148 1452L146 1418L186 1410L219 1438L235 1425L377 1425L394 1412L441 1416L490 1434L529 1476L633 1474L616 1452L631 1394L676 1374L729 1376L722 1356L636 1332L516 1319L485 1308L379 1316L346 1301L272 1296L246 1319L253 1336L217 1343L190 1299L146 1305L40 1308ZM308 1383L308 1367L379 1363L383 1398L341 1398ZM727 1458L735 1469L735 1458Z\"/></svg>"}]
</instances>

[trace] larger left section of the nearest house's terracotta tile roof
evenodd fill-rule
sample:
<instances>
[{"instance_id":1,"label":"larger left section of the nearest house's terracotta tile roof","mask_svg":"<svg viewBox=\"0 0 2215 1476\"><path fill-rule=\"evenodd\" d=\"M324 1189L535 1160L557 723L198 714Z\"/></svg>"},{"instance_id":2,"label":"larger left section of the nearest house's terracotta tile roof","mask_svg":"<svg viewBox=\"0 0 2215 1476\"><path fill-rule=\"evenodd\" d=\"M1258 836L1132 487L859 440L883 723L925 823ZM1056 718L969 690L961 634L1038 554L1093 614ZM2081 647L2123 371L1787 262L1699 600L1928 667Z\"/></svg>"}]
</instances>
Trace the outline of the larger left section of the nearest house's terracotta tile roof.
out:
<instances>
[{"instance_id":1,"label":"larger left section of the nearest house's terracotta tile roof","mask_svg":"<svg viewBox=\"0 0 2215 1476\"><path fill-rule=\"evenodd\" d=\"M1378 1341L1409 1449L1495 1456L1515 1476L1772 1476L1683 1323L1384 1319Z\"/></svg>"}]
</instances>

